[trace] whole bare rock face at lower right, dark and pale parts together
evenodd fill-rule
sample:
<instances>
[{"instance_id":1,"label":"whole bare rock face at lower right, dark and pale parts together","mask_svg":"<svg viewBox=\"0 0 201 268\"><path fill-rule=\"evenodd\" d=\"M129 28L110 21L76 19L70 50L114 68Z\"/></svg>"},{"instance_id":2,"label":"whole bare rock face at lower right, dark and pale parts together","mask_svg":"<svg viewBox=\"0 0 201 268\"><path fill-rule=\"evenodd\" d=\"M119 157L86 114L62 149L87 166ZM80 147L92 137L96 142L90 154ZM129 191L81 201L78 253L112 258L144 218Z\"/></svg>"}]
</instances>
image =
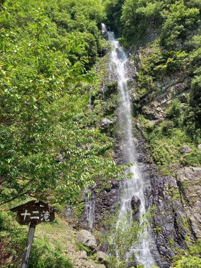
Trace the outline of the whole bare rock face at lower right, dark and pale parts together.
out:
<instances>
[{"instance_id":1,"label":"whole bare rock face at lower right, dark and pale parts together","mask_svg":"<svg viewBox=\"0 0 201 268\"><path fill-rule=\"evenodd\" d=\"M187 237L200 237L201 168L176 168L168 176L157 176L157 167L150 168L148 195L156 208L152 226L162 259L158 265L169 267L172 257L186 247Z\"/></svg>"}]
</instances>

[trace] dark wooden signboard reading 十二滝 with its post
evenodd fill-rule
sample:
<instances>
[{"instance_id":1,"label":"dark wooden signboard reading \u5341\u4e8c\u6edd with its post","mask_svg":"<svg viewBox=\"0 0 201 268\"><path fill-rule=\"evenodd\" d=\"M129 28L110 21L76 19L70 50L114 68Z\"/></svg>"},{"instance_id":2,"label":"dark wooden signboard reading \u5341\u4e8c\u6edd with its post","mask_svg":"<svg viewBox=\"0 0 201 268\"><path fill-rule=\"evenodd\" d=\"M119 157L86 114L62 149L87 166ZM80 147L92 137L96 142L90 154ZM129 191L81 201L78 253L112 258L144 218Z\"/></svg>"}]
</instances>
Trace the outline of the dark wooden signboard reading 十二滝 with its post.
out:
<instances>
[{"instance_id":1,"label":"dark wooden signboard reading \u5341\u4e8c\u6edd with its post","mask_svg":"<svg viewBox=\"0 0 201 268\"><path fill-rule=\"evenodd\" d=\"M30 224L21 265L21 268L27 268L36 225L41 222L52 222L55 219L55 210L40 200L34 200L24 205L12 208L11 211L17 211L17 221L21 225Z\"/></svg>"}]
</instances>

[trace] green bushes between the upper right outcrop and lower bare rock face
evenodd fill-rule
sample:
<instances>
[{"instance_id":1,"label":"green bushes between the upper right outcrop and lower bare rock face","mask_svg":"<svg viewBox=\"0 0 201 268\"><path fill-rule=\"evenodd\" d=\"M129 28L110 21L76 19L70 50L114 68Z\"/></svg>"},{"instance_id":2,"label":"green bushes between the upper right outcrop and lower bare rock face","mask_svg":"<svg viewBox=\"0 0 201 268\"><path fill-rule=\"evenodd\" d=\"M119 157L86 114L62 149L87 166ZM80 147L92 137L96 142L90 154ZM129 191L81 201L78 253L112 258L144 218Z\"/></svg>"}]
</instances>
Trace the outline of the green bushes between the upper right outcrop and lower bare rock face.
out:
<instances>
[{"instance_id":1,"label":"green bushes between the upper right outcrop and lower bare rock face","mask_svg":"<svg viewBox=\"0 0 201 268\"><path fill-rule=\"evenodd\" d=\"M180 126L182 117L180 102L173 101L168 107L168 115L172 120L164 120L153 128L149 128L149 121L143 116L138 116L142 124L144 137L151 146L151 153L155 162L160 166L163 174L170 173L169 164L182 163L183 165L200 166L200 150L191 141L183 126ZM177 116L176 116L177 115ZM178 116L180 115L180 117ZM192 152L182 155L180 147L189 145Z\"/></svg>"}]
</instances>

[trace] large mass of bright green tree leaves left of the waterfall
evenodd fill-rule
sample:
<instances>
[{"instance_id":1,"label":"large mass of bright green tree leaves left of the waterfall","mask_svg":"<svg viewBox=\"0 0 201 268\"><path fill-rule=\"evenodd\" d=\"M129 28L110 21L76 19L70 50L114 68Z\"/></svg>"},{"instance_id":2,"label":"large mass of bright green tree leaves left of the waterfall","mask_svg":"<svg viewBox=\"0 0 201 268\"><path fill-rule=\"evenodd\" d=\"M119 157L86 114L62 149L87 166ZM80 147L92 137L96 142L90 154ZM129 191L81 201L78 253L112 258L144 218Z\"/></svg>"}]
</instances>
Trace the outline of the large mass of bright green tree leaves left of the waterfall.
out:
<instances>
[{"instance_id":1,"label":"large mass of bright green tree leaves left of the waterfall","mask_svg":"<svg viewBox=\"0 0 201 268\"><path fill-rule=\"evenodd\" d=\"M103 19L92 3L8 0L1 10L1 204L24 195L62 203L96 177L123 176L104 156L110 140L85 120L90 42L98 47Z\"/></svg>"}]
</instances>

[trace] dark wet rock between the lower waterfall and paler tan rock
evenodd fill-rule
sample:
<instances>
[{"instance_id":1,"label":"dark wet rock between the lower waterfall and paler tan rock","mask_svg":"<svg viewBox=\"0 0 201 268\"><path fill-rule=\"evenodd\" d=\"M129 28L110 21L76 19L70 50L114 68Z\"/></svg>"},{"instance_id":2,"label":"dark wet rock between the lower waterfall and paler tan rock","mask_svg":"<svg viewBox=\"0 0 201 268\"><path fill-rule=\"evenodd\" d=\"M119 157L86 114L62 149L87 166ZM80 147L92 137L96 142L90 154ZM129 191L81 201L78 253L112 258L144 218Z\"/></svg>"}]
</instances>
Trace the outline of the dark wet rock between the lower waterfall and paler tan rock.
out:
<instances>
[{"instance_id":1,"label":"dark wet rock between the lower waterfall and paler tan rock","mask_svg":"<svg viewBox=\"0 0 201 268\"><path fill-rule=\"evenodd\" d=\"M184 224L187 214L175 176L158 176L154 165L150 171L151 188L147 197L148 204L155 206L152 228L160 252L160 258L156 256L155 260L159 267L168 268L175 255L174 248L185 249L185 236L191 232Z\"/></svg>"}]
</instances>

